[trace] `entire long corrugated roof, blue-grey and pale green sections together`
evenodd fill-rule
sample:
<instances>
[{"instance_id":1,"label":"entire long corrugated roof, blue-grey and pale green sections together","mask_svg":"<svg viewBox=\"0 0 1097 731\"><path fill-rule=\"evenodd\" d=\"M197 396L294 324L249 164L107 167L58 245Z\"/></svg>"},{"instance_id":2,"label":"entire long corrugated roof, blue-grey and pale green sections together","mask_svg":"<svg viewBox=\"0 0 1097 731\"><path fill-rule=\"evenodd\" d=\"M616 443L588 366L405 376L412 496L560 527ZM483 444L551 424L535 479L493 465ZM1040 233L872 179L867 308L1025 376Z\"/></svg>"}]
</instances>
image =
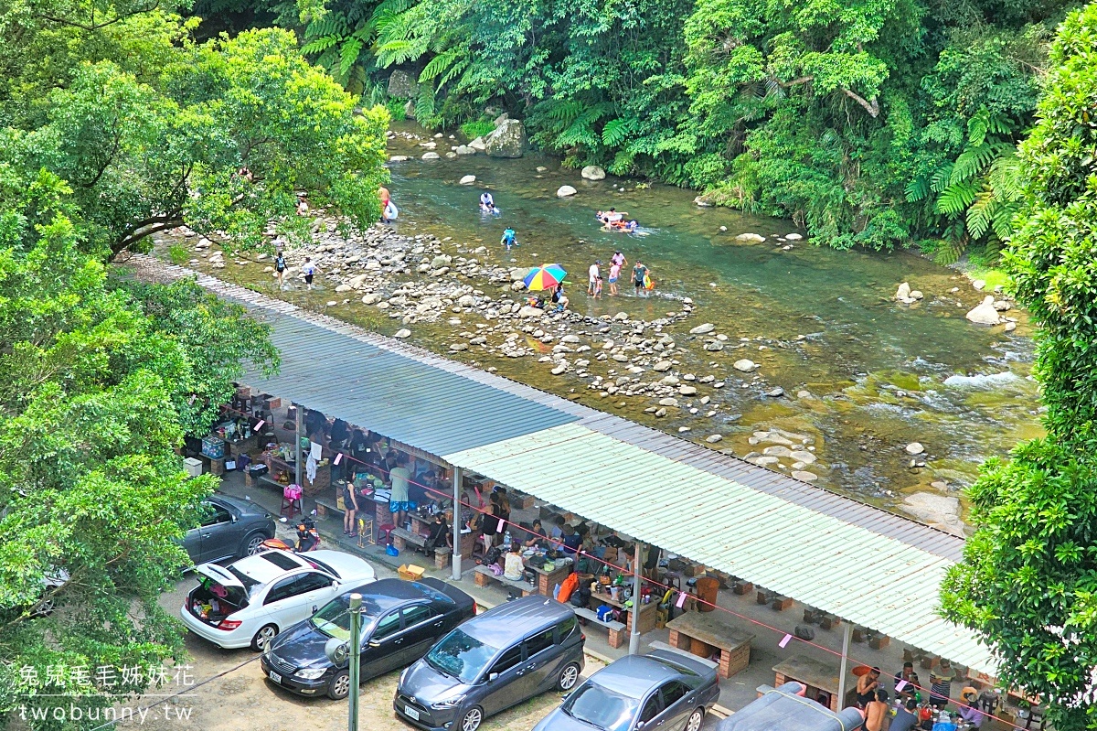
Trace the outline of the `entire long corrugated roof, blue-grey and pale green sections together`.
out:
<instances>
[{"instance_id":1,"label":"entire long corrugated roof, blue-grey and pale green sections together","mask_svg":"<svg viewBox=\"0 0 1097 731\"><path fill-rule=\"evenodd\" d=\"M195 272L135 257L156 275ZM246 382L991 675L937 616L963 541L844 495L207 275L271 324ZM485 418L488 417L488 418ZM548 466L544 466L548 465Z\"/></svg>"}]
</instances>

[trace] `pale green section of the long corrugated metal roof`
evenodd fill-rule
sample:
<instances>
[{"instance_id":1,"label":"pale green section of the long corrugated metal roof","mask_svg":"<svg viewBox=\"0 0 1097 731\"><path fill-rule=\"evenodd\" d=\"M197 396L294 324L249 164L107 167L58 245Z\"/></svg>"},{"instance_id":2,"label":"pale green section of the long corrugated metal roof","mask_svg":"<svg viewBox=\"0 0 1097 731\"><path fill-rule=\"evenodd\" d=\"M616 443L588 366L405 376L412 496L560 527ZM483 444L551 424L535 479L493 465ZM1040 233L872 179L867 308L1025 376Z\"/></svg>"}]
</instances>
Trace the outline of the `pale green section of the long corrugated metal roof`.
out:
<instances>
[{"instance_id":1,"label":"pale green section of the long corrugated metal roof","mask_svg":"<svg viewBox=\"0 0 1097 731\"><path fill-rule=\"evenodd\" d=\"M931 551L584 424L442 457L642 541L995 674L987 649L937 615L938 587L953 562Z\"/></svg>"}]
</instances>

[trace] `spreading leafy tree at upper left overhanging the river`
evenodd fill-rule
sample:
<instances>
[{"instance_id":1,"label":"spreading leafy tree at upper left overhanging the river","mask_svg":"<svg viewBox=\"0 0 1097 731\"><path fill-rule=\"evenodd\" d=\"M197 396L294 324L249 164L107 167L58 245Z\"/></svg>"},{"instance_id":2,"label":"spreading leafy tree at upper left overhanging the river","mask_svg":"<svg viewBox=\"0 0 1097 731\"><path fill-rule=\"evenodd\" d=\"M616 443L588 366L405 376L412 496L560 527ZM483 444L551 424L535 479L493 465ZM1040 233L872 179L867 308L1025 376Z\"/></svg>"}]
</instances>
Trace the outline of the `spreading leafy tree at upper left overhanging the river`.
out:
<instances>
[{"instance_id":1,"label":"spreading leafy tree at upper left overhanging the river","mask_svg":"<svg viewBox=\"0 0 1097 731\"><path fill-rule=\"evenodd\" d=\"M52 20L79 16L66 1L20 0L0 13L0 29L15 38L0 53L13 70L0 83L0 119L19 165L69 182L90 246L145 250L150 234L182 223L257 246L272 221L304 233L298 191L358 227L380 217L387 112L357 113L354 98L305 61L292 33L256 30L197 45L188 36L193 23L158 11L103 25ZM120 11L111 3L100 12ZM57 43L71 53L53 76L20 64L49 58Z\"/></svg>"}]
</instances>

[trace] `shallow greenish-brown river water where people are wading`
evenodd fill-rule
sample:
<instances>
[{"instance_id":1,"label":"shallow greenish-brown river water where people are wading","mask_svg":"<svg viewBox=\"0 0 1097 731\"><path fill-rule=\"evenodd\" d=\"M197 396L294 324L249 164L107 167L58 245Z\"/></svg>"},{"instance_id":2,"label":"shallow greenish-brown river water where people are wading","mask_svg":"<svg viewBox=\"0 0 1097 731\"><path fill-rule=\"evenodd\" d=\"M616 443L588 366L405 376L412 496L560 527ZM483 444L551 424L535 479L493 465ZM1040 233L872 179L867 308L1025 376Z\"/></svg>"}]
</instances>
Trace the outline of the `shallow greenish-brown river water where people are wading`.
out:
<instances>
[{"instance_id":1,"label":"shallow greenish-brown river water where people are wading","mask_svg":"<svg viewBox=\"0 0 1097 731\"><path fill-rule=\"evenodd\" d=\"M456 144L437 142L441 154ZM567 289L572 310L595 317L626 312L651 320L690 297L694 316L672 328L675 337L687 339L690 327L712 323L728 338L724 351L697 348L695 362L680 367L699 376L727 376L728 387L713 393L719 414L711 418L682 411L656 419L644 413L649 403L599 396L586 389L587 382L550 375L551 364L531 358L480 363L502 375L671 432L688 426L687 438L723 434L717 446L739 456L760 451L749 441L759 429L806 435L818 457L818 464L808 469L818 473L819 484L881 504L896 504L916 492L959 496L980 462L1041 434L1024 314L1009 313L1019 318L1013 333L968 323L964 313L984 293L954 270L907 252L835 251L806 240L778 241L772 237L794 233L789 222L699 207L695 193L677 188L617 179L588 182L552 158L476 155L423 161L425 150L403 138L391 140L389 151L411 157L391 166L400 233L452 237L448 245L455 254L487 246L482 260L512 267L559 262L573 272ZM476 184L457 184L465 175L475 175ZM562 184L578 193L558 199L555 191ZM485 189L502 211L498 218L479 215L477 198ZM595 211L611 206L626 211L648 235L600 230ZM506 226L518 232L520 243L510 255L498 245ZM767 243L735 239L748 232L766 236ZM623 296L586 296L587 267L596 258L608 262L614 249L651 268L658 282L655 296L636 299L627 286L622 286ZM217 274L249 279L230 271ZM608 263L603 275L607 271ZM924 292L920 303L908 307L892 300L904 281ZM323 306L327 295L287 296ZM400 327L399 320L369 310L358 304L329 312L386 334ZM412 340L448 352L450 330L444 324L417 327ZM474 359L470 352L448 355ZM738 384L731 378L730 364L739 358L760 363L761 382ZM783 397L766 395L777 386L784 390ZM911 464L914 458L905 447L914 441L925 447L917 458L925 466Z\"/></svg>"}]
</instances>

